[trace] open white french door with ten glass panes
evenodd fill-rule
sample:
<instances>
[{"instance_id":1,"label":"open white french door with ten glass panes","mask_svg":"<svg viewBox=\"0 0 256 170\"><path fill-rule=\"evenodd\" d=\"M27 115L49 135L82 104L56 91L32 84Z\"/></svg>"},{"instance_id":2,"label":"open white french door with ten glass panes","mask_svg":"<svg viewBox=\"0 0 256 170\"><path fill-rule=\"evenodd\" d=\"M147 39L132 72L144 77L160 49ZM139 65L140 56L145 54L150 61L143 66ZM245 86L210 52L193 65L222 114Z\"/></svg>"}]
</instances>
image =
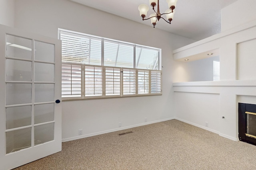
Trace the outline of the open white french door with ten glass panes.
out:
<instances>
[{"instance_id":1,"label":"open white french door with ten glass panes","mask_svg":"<svg viewBox=\"0 0 256 170\"><path fill-rule=\"evenodd\" d=\"M0 25L0 169L61 150L61 42Z\"/></svg>"}]
</instances>

